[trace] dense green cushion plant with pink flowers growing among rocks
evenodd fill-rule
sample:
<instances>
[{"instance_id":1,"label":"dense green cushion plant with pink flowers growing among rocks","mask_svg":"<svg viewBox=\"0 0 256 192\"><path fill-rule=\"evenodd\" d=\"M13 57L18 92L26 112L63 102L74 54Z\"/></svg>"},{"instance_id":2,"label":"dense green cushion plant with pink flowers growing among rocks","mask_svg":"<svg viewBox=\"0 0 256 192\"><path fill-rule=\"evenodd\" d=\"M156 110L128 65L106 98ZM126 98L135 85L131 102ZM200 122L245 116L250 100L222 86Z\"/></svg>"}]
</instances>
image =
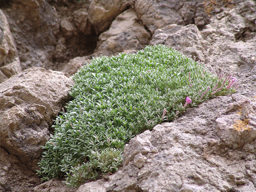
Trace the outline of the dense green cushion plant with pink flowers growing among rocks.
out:
<instances>
[{"instance_id":1,"label":"dense green cushion plant with pink flowers growing among rocks","mask_svg":"<svg viewBox=\"0 0 256 192\"><path fill-rule=\"evenodd\" d=\"M231 75L164 45L94 58L73 79L73 100L56 118L38 170L42 180L66 176L69 187L116 172L136 134L238 87Z\"/></svg>"}]
</instances>

